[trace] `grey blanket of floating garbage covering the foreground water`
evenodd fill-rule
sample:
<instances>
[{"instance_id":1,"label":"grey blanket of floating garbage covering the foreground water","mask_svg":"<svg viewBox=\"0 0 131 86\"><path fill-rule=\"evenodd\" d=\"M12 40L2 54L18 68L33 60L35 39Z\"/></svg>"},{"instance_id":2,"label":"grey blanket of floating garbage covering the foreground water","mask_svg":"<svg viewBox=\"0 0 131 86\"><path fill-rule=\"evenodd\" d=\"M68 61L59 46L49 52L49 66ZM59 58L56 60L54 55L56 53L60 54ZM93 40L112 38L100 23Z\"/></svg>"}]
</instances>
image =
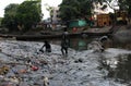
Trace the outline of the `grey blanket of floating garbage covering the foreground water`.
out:
<instances>
[{"instance_id":1,"label":"grey blanket of floating garbage covering the foreground water","mask_svg":"<svg viewBox=\"0 0 131 86\"><path fill-rule=\"evenodd\" d=\"M0 86L128 86L103 78L105 74L97 69L100 53L69 49L69 56L62 58L60 46L51 45L50 53L37 53L41 46L43 42L2 40ZM116 58L114 51L103 57ZM122 52L127 51L119 54Z\"/></svg>"}]
</instances>

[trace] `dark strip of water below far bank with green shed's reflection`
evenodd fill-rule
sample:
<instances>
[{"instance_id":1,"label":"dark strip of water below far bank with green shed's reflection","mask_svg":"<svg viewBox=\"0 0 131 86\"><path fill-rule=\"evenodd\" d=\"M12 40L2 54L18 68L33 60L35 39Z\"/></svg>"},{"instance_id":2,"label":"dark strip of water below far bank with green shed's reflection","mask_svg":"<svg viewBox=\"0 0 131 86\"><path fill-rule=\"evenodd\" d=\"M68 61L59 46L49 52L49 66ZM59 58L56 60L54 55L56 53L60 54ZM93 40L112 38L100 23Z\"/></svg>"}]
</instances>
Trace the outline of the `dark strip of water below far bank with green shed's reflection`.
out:
<instances>
[{"instance_id":1,"label":"dark strip of water below far bank with green shed's reflection","mask_svg":"<svg viewBox=\"0 0 131 86\"><path fill-rule=\"evenodd\" d=\"M70 47L75 50L86 50L87 45L100 37L78 37L70 38ZM130 39L130 38L129 38ZM61 39L52 39L51 44L60 45ZM131 49L131 39L118 40L115 37L109 37L108 40L104 42L105 48L119 48L119 49Z\"/></svg>"}]
</instances>

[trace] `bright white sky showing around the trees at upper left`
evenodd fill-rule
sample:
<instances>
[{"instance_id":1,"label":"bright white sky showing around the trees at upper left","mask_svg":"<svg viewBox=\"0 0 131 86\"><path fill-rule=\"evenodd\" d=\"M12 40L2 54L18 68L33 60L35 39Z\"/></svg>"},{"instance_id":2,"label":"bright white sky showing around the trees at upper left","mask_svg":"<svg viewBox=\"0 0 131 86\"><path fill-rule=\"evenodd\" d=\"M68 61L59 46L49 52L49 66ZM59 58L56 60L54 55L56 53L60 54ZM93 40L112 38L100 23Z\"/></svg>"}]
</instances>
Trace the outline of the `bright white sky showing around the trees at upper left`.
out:
<instances>
[{"instance_id":1,"label":"bright white sky showing around the trees at upper left","mask_svg":"<svg viewBox=\"0 0 131 86\"><path fill-rule=\"evenodd\" d=\"M3 17L4 8L10 3L22 3L25 0L2 0L0 2L0 17ZM45 9L45 4L48 3L51 7L57 7L62 0L41 0L41 12L44 13L44 19L49 17L49 12Z\"/></svg>"}]
</instances>

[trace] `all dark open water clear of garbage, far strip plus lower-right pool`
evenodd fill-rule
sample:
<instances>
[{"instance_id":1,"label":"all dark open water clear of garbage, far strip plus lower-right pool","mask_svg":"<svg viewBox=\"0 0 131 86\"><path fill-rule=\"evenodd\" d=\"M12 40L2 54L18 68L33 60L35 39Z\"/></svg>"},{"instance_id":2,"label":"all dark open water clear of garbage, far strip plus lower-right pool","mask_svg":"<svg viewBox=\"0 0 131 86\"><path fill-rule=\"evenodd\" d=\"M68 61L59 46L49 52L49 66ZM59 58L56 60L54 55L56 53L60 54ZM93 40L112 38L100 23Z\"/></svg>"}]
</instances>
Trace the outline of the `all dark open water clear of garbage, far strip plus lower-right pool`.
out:
<instances>
[{"instance_id":1,"label":"all dark open water clear of garbage, far strip plus lower-right pool","mask_svg":"<svg viewBox=\"0 0 131 86\"><path fill-rule=\"evenodd\" d=\"M72 38L70 39L70 47L75 50L87 50L87 45L91 41L94 41L99 37L87 37L87 38ZM53 42L53 41L52 41ZM58 40L58 44L60 41ZM131 39L120 39L115 37L109 37L108 40L104 42L105 48L116 48L123 50L131 50ZM105 78L114 78L116 82L121 83L130 83L131 82L131 54L120 54L117 57L116 61L112 64L108 64L111 62L110 60L103 57L99 60L100 69L108 71L108 74L105 75ZM105 63L106 61L106 63ZM108 62L108 63L107 63ZM130 85L130 84L129 84Z\"/></svg>"}]
</instances>

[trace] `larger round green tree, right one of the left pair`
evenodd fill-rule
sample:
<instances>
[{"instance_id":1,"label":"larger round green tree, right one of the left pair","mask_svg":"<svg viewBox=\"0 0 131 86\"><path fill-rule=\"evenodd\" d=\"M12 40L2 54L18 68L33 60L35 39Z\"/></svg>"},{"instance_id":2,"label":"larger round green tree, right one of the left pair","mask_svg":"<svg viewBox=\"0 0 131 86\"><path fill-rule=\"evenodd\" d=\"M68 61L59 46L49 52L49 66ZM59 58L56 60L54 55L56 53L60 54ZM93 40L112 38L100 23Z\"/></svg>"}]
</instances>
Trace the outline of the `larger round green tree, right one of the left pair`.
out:
<instances>
[{"instance_id":1,"label":"larger round green tree, right one of the left pair","mask_svg":"<svg viewBox=\"0 0 131 86\"><path fill-rule=\"evenodd\" d=\"M39 0L35 1L24 1L17 8L16 19L19 25L23 27L24 32L29 30L33 25L36 25L40 22L41 10Z\"/></svg>"}]
</instances>

